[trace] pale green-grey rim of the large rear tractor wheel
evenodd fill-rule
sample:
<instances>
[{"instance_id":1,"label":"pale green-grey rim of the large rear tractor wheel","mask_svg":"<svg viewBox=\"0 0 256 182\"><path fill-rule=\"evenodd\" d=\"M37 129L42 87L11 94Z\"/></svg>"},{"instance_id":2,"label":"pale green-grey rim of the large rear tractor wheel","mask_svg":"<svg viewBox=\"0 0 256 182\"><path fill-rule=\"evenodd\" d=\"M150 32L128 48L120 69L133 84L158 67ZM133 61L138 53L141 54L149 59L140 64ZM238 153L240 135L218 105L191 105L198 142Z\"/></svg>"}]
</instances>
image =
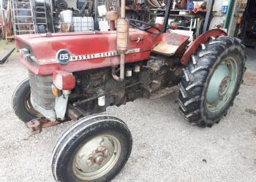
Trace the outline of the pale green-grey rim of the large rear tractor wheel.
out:
<instances>
[{"instance_id":1,"label":"pale green-grey rim of the large rear tractor wheel","mask_svg":"<svg viewBox=\"0 0 256 182\"><path fill-rule=\"evenodd\" d=\"M234 58L226 58L217 66L206 91L208 111L217 112L232 98L237 82L238 66Z\"/></svg>"}]
</instances>

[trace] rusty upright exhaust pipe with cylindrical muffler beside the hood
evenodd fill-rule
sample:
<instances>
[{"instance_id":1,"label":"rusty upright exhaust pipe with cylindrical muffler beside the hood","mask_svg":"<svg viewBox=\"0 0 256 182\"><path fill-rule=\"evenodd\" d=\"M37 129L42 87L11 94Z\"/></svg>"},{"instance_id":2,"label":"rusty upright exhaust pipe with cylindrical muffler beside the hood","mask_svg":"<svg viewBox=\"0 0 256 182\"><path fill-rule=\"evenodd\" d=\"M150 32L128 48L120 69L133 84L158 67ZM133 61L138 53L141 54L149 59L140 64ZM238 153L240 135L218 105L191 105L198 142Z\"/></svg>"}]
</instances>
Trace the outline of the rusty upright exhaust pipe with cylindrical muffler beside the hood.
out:
<instances>
[{"instance_id":1,"label":"rusty upright exhaust pipe with cylindrical muffler beside the hood","mask_svg":"<svg viewBox=\"0 0 256 182\"><path fill-rule=\"evenodd\" d=\"M129 22L125 19L125 0L121 0L121 16L117 20L116 28L116 50L120 54L120 76L116 75L115 68L112 68L112 76L116 81L124 80L125 52L128 49Z\"/></svg>"}]
</instances>

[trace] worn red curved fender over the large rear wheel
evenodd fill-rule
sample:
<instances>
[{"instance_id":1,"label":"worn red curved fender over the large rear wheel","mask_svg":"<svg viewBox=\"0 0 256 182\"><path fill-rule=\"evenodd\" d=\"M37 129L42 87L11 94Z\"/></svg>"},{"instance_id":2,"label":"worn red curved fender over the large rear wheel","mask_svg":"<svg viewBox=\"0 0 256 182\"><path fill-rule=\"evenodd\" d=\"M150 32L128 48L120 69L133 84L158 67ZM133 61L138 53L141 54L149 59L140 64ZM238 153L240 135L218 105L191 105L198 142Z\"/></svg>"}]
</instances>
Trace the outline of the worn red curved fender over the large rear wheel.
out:
<instances>
[{"instance_id":1,"label":"worn red curved fender over the large rear wheel","mask_svg":"<svg viewBox=\"0 0 256 182\"><path fill-rule=\"evenodd\" d=\"M187 48L186 52L182 56L181 64L187 66L189 64L191 56L197 51L198 46L202 43L206 43L206 41L208 41L211 36L217 37L226 35L227 33L225 31L222 31L221 29L213 29L211 31L206 31L206 33L198 36L198 38L195 39L192 44L190 44L190 46Z\"/></svg>"}]
</instances>

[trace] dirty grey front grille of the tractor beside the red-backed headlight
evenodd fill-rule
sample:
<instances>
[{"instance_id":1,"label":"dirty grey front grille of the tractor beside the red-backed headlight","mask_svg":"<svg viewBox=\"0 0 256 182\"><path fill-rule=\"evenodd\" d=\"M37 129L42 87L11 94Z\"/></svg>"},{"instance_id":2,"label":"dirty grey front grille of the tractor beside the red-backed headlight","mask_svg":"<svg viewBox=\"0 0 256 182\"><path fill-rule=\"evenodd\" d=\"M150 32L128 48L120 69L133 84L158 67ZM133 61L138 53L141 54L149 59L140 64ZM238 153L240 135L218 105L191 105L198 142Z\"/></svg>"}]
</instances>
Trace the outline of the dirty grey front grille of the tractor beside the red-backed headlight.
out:
<instances>
[{"instance_id":1,"label":"dirty grey front grille of the tractor beside the red-backed headlight","mask_svg":"<svg viewBox=\"0 0 256 182\"><path fill-rule=\"evenodd\" d=\"M55 106L55 97L51 90L52 78L52 76L35 75L29 71L32 98L39 106L46 110L53 110Z\"/></svg>"}]
</instances>

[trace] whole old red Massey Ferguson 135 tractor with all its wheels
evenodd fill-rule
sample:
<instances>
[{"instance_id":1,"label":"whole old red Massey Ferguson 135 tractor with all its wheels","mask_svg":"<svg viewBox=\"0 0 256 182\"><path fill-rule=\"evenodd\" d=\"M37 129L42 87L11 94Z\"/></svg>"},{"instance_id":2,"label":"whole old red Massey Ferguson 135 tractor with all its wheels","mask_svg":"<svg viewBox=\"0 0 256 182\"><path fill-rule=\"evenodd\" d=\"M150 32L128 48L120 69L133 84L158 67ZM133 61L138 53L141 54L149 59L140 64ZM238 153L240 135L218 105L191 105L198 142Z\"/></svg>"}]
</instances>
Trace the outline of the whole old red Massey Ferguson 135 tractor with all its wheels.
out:
<instances>
[{"instance_id":1,"label":"whole old red Massey Ferguson 135 tractor with all its wheels","mask_svg":"<svg viewBox=\"0 0 256 182\"><path fill-rule=\"evenodd\" d=\"M215 29L189 42L188 36L167 31L168 12L163 25L127 20L124 2L119 18L118 12L106 15L110 31L15 39L29 70L12 97L18 118L32 133L77 121L53 150L56 181L110 181L124 167L132 135L121 119L98 114L107 106L178 85L184 119L211 127L238 94L246 60L241 40Z\"/></svg>"}]
</instances>

